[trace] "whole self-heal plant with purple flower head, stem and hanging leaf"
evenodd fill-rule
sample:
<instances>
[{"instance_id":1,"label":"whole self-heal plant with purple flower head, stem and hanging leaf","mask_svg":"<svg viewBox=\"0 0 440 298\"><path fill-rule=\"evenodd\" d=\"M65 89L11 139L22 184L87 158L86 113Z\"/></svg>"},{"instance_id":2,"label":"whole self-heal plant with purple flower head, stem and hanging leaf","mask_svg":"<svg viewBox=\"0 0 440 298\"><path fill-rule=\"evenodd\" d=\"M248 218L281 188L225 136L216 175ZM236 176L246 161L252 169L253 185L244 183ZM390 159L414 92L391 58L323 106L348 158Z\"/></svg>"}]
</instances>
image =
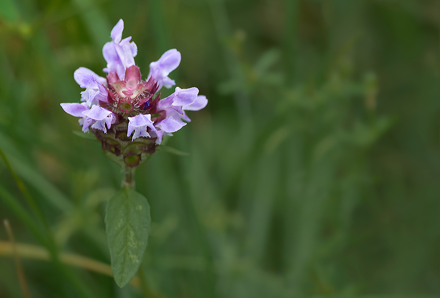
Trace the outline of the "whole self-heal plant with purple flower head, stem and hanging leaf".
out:
<instances>
[{"instance_id":1,"label":"whole self-heal plant with purple flower head, stem and hanging leaf","mask_svg":"<svg viewBox=\"0 0 440 298\"><path fill-rule=\"evenodd\" d=\"M147 198L135 191L134 171L171 135L191 119L185 111L199 111L208 100L199 89L175 87L160 98L162 87L175 85L168 75L180 64L180 52L170 49L150 63L143 79L135 65L137 46L131 37L122 39L123 21L111 32L112 41L103 49L107 76L80 67L74 78L81 88L81 103L62 103L63 110L80 117L84 133L91 132L101 143L104 155L122 169L122 187L109 198L105 223L115 282L123 287L136 274L143 260L151 227Z\"/></svg>"}]
</instances>

